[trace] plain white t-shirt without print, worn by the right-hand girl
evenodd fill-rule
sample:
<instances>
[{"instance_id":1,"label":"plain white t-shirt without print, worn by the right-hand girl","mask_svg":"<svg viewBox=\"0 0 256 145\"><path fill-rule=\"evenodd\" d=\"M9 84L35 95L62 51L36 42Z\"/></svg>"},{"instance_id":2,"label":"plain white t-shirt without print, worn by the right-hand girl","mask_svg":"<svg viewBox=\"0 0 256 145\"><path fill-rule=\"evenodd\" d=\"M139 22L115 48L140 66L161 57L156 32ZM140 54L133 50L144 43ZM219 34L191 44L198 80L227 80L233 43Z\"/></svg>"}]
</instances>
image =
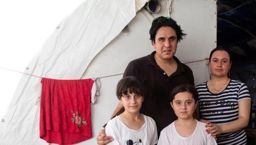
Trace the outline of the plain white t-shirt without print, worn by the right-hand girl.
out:
<instances>
[{"instance_id":1,"label":"plain white t-shirt without print, worn by the right-hand girl","mask_svg":"<svg viewBox=\"0 0 256 145\"><path fill-rule=\"evenodd\" d=\"M177 133L174 123L161 131L157 145L217 145L214 137L205 131L207 124L197 121L194 133L189 137L182 137Z\"/></svg>"}]
</instances>

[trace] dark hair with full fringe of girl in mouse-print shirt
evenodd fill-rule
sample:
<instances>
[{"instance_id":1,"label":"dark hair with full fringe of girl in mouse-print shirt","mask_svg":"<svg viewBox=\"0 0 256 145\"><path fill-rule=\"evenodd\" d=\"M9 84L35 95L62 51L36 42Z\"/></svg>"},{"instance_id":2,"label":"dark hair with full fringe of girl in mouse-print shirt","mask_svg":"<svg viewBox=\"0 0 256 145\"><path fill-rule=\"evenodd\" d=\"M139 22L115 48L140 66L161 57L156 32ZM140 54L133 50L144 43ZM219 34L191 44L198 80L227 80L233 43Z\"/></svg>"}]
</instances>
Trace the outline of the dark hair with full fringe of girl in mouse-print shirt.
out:
<instances>
[{"instance_id":1,"label":"dark hair with full fringe of girl in mouse-print shirt","mask_svg":"<svg viewBox=\"0 0 256 145\"><path fill-rule=\"evenodd\" d=\"M122 96L128 95L129 93L138 94L140 96L144 96L145 93L143 84L133 76L122 78L116 86L117 99L121 99ZM123 112L125 112L125 107L122 107L111 119L115 118L116 116L119 116ZM107 124L105 124L103 128L105 128L106 125Z\"/></svg>"}]
</instances>

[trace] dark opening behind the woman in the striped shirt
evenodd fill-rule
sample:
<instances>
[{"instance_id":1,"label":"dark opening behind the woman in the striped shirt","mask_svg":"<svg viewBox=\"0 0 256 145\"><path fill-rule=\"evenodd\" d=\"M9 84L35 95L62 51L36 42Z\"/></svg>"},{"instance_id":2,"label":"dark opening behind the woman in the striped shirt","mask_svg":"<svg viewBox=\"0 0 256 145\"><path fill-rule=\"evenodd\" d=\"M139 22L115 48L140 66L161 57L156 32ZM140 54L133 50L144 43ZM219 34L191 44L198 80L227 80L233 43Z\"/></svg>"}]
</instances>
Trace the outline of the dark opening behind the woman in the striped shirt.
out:
<instances>
[{"instance_id":1,"label":"dark opening behind the woman in the striped shirt","mask_svg":"<svg viewBox=\"0 0 256 145\"><path fill-rule=\"evenodd\" d=\"M230 77L249 89L252 104L247 145L256 145L256 0L218 0L217 4L217 46L230 49Z\"/></svg>"}]
</instances>

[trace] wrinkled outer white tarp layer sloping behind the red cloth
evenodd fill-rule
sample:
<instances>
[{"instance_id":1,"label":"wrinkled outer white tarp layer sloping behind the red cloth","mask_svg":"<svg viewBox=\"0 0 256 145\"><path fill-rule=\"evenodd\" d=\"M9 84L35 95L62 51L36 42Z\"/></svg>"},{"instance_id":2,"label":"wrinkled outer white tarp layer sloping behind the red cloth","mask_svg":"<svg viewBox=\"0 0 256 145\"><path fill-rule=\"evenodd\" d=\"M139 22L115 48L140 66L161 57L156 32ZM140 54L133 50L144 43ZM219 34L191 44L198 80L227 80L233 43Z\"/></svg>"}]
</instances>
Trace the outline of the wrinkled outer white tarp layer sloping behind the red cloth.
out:
<instances>
[{"instance_id":1,"label":"wrinkled outer white tarp layer sloping behind the red cloth","mask_svg":"<svg viewBox=\"0 0 256 145\"><path fill-rule=\"evenodd\" d=\"M94 56L135 17L134 0L85 0L56 27L25 73L80 79ZM0 143L33 144L38 139L40 78L23 75L0 124ZM35 120L36 119L36 120ZM41 142L41 139L39 140ZM36 143L38 144L38 143Z\"/></svg>"}]
</instances>

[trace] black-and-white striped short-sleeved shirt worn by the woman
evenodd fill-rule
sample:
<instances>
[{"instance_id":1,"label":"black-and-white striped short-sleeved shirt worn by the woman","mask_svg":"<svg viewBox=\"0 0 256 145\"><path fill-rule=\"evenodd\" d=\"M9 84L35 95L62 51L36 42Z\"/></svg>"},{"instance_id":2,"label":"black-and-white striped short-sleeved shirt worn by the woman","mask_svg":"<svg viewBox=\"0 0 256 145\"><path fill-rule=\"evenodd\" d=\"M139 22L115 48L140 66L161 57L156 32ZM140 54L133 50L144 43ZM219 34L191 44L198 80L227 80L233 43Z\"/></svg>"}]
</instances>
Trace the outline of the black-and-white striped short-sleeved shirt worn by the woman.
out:
<instances>
[{"instance_id":1,"label":"black-and-white striped short-sleeved shirt worn by the woman","mask_svg":"<svg viewBox=\"0 0 256 145\"><path fill-rule=\"evenodd\" d=\"M238 119L238 102L250 99L249 91L241 81L230 80L221 93L211 93L207 82L196 86L201 118L217 125L227 124ZM223 133L217 137L218 145L246 145L247 137L244 129Z\"/></svg>"}]
</instances>

